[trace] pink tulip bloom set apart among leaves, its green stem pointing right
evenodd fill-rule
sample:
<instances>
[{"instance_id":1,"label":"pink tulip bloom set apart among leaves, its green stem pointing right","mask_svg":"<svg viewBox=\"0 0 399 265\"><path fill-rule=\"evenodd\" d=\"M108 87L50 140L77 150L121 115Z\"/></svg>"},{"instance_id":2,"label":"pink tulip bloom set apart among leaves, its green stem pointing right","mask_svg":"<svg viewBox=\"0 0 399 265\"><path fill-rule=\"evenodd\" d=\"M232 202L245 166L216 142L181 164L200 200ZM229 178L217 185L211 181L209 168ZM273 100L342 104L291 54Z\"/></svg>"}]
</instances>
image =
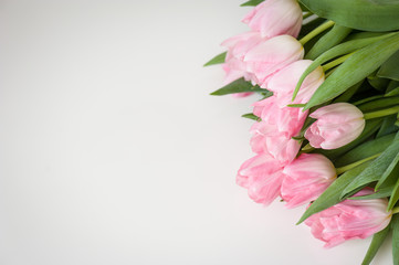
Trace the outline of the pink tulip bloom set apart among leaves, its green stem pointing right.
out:
<instances>
[{"instance_id":1,"label":"pink tulip bloom set apart among leaves, its green stem pointing right","mask_svg":"<svg viewBox=\"0 0 399 265\"><path fill-rule=\"evenodd\" d=\"M355 140L365 128L363 113L349 103L336 103L309 115L317 119L305 132L311 146L336 149Z\"/></svg>"}]
</instances>

